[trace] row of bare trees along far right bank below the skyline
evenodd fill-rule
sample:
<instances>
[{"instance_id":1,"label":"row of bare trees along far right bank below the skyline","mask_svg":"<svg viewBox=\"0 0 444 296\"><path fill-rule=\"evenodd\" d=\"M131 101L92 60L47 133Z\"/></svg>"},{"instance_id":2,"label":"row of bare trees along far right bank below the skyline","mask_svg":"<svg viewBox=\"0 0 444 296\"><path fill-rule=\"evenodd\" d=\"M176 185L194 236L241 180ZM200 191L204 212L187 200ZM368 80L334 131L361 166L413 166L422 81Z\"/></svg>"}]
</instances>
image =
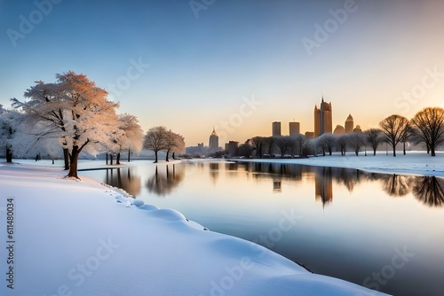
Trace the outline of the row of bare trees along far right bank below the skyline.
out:
<instances>
[{"instance_id":1,"label":"row of bare trees along far right bank below the skyline","mask_svg":"<svg viewBox=\"0 0 444 296\"><path fill-rule=\"evenodd\" d=\"M439 107L424 108L408 121L400 115L390 115L379 123L380 129L369 129L345 135L323 134L314 139L303 135L295 136L255 136L241 144L237 154L242 156L256 155L258 158L280 154L281 157L305 156L308 154L332 154L333 151L345 155L351 149L356 155L369 147L376 155L380 144L392 147L396 156L396 147L403 144L406 154L406 143L425 144L427 153L436 155L436 148L444 142L444 109Z\"/></svg>"}]
</instances>

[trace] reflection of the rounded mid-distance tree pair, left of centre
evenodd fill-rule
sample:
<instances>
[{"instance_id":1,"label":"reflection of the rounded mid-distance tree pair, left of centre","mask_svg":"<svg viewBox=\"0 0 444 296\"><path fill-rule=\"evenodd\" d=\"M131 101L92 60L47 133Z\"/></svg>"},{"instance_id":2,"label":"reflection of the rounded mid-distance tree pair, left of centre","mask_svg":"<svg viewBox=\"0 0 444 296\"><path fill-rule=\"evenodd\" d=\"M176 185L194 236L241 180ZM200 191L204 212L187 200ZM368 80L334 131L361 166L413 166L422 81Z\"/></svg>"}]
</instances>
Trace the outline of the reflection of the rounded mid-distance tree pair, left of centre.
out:
<instances>
[{"instance_id":1,"label":"reflection of the rounded mid-distance tree pair, left of centre","mask_svg":"<svg viewBox=\"0 0 444 296\"><path fill-rule=\"evenodd\" d=\"M155 175L149 177L146 183L148 191L155 192L161 197L170 194L182 182L185 175L183 169L175 164L163 168L164 171L155 166Z\"/></svg>"}]
</instances>

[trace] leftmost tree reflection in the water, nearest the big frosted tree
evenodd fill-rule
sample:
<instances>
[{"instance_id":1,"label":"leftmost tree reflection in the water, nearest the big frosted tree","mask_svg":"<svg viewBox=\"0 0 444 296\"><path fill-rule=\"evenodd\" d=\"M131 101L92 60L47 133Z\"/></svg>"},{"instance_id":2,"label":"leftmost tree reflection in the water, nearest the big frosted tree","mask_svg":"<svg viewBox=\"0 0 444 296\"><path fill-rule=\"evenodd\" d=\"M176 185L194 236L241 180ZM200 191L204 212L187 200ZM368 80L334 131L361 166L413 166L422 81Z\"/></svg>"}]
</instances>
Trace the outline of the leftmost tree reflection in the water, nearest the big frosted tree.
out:
<instances>
[{"instance_id":1,"label":"leftmost tree reflection in the water, nearest the big frosted tree","mask_svg":"<svg viewBox=\"0 0 444 296\"><path fill-rule=\"evenodd\" d=\"M124 173L124 171L126 171L126 174ZM141 187L140 176L131 175L130 167L107 169L105 183L111 186L122 188L124 191L127 191L132 196L138 195Z\"/></svg>"}]
</instances>

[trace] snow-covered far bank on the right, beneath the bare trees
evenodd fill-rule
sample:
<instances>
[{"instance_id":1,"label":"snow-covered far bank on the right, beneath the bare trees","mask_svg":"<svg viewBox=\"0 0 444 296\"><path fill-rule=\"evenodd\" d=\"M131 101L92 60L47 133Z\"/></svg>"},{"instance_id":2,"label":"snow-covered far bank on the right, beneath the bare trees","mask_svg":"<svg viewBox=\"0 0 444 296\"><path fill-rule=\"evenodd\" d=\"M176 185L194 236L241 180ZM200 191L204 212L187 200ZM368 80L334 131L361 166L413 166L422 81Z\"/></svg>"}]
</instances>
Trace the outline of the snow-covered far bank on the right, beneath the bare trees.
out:
<instances>
[{"instance_id":1,"label":"snow-covered far bank on the right, beneath the bare trees","mask_svg":"<svg viewBox=\"0 0 444 296\"><path fill-rule=\"evenodd\" d=\"M333 155L317 157L311 156L308 159L255 159L255 160L239 160L236 161L253 161L253 162L279 162L279 163L297 163L309 166L321 167L349 167L358 168L369 172L392 173L404 175L436 175L444 176L444 152L437 152L435 157L430 156L426 152L397 152L397 156L393 157L391 152L388 156L385 152L377 152L373 156L373 152L360 152L359 156L353 152L347 152L346 156L341 156L335 152Z\"/></svg>"}]
</instances>

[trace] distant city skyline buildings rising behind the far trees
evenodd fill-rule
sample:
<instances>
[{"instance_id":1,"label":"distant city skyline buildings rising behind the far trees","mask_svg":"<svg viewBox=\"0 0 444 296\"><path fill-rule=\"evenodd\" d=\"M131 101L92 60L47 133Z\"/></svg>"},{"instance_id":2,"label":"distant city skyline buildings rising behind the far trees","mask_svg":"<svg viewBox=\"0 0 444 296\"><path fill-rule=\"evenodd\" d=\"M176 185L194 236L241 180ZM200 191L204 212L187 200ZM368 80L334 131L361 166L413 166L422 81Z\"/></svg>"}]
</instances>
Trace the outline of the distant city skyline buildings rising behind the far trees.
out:
<instances>
[{"instance_id":1,"label":"distant city skyline buildings rising behind the far trees","mask_svg":"<svg viewBox=\"0 0 444 296\"><path fill-rule=\"evenodd\" d=\"M314 105L314 131L305 132L305 136L308 139L313 139L314 137L321 136L322 134L334 134L343 135L353 132L361 132L361 127L357 125L354 127L354 121L352 114L349 114L345 120L344 126L337 125L333 130L333 112L331 108L331 102L327 103L324 101L324 97L321 99L321 105L318 107ZM300 134L300 122L289 122L289 136L294 136ZM274 121L272 123L272 136L282 136L281 134L281 121ZM230 141L225 144L225 150L228 153L234 154L239 146L239 142ZM203 143L197 144L194 147L186 148L186 152L189 154L200 153L207 154L211 152L218 152L219 149L219 137L216 133L216 129L210 134L209 144L206 147Z\"/></svg>"}]
</instances>

